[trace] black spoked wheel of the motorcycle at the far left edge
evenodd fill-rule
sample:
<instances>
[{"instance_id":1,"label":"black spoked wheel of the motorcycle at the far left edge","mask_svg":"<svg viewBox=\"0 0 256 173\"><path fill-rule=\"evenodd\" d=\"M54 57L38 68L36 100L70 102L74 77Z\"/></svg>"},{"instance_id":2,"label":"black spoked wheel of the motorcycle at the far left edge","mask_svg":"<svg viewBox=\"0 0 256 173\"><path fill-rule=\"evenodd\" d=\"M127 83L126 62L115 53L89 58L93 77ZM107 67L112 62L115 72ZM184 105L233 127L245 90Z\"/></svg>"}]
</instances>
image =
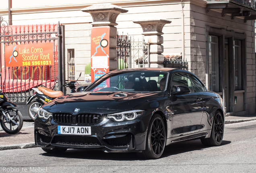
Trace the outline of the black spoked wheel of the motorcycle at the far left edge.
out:
<instances>
[{"instance_id":1,"label":"black spoked wheel of the motorcycle at the far left edge","mask_svg":"<svg viewBox=\"0 0 256 173\"><path fill-rule=\"evenodd\" d=\"M3 130L9 134L18 133L23 126L23 117L21 112L15 108L7 108L4 113L11 117L11 121L8 123L4 116L1 116L0 124Z\"/></svg>"}]
</instances>

